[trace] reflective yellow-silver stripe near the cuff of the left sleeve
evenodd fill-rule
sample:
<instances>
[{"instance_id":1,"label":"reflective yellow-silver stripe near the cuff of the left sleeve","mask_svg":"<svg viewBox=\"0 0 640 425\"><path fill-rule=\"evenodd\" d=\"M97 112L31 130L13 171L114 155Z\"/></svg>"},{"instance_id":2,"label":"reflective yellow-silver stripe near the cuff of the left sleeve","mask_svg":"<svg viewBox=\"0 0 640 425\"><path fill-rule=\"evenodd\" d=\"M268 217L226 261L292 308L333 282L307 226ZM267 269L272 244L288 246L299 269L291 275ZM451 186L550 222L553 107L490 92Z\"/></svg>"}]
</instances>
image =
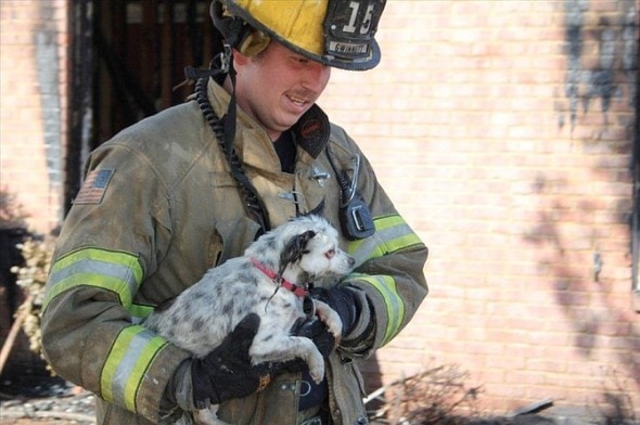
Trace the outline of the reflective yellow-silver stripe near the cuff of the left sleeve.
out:
<instances>
[{"instance_id":1,"label":"reflective yellow-silver stripe near the cuff of the left sleeve","mask_svg":"<svg viewBox=\"0 0 640 425\"><path fill-rule=\"evenodd\" d=\"M136 412L136 396L146 369L166 345L165 339L140 325L125 327L102 369L102 398Z\"/></svg>"}]
</instances>

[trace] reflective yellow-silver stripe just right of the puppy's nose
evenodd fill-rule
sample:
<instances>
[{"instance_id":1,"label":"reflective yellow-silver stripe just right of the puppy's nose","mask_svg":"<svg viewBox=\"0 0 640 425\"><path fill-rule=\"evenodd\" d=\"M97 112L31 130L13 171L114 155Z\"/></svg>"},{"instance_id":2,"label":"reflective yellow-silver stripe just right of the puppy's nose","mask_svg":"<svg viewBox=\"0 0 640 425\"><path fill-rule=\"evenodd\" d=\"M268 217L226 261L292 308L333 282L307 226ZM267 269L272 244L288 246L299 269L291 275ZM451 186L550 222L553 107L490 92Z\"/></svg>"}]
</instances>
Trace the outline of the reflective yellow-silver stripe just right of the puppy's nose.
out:
<instances>
[{"instance_id":1,"label":"reflective yellow-silver stripe just right of the puppy's nose","mask_svg":"<svg viewBox=\"0 0 640 425\"><path fill-rule=\"evenodd\" d=\"M398 215L379 217L374 219L374 224L373 236L347 245L347 252L356 258L357 265L422 244L420 237Z\"/></svg>"}]
</instances>

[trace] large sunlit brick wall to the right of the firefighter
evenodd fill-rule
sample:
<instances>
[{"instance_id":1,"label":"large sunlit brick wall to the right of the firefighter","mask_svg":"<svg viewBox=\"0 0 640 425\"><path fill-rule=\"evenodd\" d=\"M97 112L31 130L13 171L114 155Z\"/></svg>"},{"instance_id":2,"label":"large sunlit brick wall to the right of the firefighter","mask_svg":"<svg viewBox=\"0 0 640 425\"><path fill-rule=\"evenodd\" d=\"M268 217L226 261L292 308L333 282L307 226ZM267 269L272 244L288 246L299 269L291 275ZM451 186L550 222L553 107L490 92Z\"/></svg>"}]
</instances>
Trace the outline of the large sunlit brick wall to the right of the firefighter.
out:
<instances>
[{"instance_id":1,"label":"large sunlit brick wall to the right of the firefighter","mask_svg":"<svg viewBox=\"0 0 640 425\"><path fill-rule=\"evenodd\" d=\"M637 8L392 0L382 64L333 73L321 105L431 249L430 296L368 364L384 383L456 363L487 409L593 413L609 394L640 417Z\"/></svg>"}]
</instances>

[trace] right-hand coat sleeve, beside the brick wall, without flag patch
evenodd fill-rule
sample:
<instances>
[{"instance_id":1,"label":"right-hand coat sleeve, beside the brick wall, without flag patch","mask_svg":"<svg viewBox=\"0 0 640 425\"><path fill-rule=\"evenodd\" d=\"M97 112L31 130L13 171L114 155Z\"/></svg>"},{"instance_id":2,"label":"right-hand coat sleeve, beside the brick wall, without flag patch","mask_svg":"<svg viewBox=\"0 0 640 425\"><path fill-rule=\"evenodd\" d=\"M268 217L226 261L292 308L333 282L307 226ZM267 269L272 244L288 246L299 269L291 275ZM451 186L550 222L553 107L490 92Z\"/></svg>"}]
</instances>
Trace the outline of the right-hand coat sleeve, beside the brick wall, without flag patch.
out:
<instances>
[{"instance_id":1,"label":"right-hand coat sleeve, beside the brick wall, without flag patch","mask_svg":"<svg viewBox=\"0 0 640 425\"><path fill-rule=\"evenodd\" d=\"M351 152L357 150L351 146ZM356 293L360 314L341 350L368 357L398 335L426 297L427 248L396 210L370 163L357 152L361 156L358 190L370 208L375 233L347 243L357 267L341 285Z\"/></svg>"}]
</instances>

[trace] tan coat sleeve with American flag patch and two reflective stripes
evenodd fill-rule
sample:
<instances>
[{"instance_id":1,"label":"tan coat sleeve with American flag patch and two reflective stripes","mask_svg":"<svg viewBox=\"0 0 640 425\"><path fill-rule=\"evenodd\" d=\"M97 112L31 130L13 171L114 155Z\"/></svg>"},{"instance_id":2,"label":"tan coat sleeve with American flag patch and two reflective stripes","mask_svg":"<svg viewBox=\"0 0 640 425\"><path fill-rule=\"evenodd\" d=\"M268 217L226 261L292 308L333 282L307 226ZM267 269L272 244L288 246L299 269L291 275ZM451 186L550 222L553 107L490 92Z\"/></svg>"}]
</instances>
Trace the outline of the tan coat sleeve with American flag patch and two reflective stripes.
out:
<instances>
[{"instance_id":1,"label":"tan coat sleeve with American flag patch and two reflective stripes","mask_svg":"<svg viewBox=\"0 0 640 425\"><path fill-rule=\"evenodd\" d=\"M139 324L133 302L170 240L167 202L135 151L111 143L93 153L61 230L42 317L43 353L59 375L152 422L188 358Z\"/></svg>"}]
</instances>

